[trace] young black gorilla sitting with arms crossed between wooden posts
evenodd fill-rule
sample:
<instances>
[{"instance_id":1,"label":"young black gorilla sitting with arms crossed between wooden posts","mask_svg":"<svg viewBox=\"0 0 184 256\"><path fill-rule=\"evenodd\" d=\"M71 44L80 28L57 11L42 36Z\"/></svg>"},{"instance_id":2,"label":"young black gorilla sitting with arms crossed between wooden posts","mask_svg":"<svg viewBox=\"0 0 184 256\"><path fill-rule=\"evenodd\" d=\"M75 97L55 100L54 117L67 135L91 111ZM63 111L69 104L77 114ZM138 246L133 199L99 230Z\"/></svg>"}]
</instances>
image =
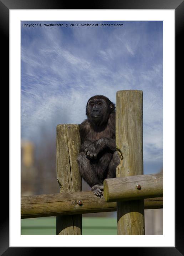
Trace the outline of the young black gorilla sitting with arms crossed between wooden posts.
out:
<instances>
[{"instance_id":1,"label":"young black gorilla sitting with arms crossed between wooden posts","mask_svg":"<svg viewBox=\"0 0 184 256\"><path fill-rule=\"evenodd\" d=\"M103 95L91 97L86 105L87 119L80 124L79 171L97 196L103 181L116 177L119 156L115 140L115 105Z\"/></svg>"}]
</instances>

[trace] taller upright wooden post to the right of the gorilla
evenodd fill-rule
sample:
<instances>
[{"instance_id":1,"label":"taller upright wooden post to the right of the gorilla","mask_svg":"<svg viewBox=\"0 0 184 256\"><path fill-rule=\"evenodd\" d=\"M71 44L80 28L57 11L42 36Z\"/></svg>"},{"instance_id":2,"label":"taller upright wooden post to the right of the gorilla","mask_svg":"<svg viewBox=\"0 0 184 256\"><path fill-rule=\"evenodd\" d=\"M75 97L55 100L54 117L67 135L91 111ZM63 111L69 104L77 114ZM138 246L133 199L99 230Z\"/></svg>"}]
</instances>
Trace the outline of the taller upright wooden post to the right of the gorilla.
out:
<instances>
[{"instance_id":1,"label":"taller upright wooden post to the right of the gorilla","mask_svg":"<svg viewBox=\"0 0 184 256\"><path fill-rule=\"evenodd\" d=\"M116 147L121 157L117 177L143 174L143 92L140 90L116 94ZM118 235L145 235L144 200L117 202L117 229Z\"/></svg>"}]
</instances>

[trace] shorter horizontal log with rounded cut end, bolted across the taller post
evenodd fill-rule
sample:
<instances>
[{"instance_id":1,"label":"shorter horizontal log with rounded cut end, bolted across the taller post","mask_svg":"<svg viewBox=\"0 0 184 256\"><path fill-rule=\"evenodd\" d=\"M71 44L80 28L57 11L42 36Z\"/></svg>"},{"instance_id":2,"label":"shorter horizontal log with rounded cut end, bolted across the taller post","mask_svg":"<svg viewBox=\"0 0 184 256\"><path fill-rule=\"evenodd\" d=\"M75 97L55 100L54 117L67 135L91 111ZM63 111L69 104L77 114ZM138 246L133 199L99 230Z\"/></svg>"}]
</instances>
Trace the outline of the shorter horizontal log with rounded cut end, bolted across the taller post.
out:
<instances>
[{"instance_id":1,"label":"shorter horizontal log with rounded cut end, bolted across the taller post","mask_svg":"<svg viewBox=\"0 0 184 256\"><path fill-rule=\"evenodd\" d=\"M104 180L104 197L107 202L161 196L163 196L163 173Z\"/></svg>"}]
</instances>

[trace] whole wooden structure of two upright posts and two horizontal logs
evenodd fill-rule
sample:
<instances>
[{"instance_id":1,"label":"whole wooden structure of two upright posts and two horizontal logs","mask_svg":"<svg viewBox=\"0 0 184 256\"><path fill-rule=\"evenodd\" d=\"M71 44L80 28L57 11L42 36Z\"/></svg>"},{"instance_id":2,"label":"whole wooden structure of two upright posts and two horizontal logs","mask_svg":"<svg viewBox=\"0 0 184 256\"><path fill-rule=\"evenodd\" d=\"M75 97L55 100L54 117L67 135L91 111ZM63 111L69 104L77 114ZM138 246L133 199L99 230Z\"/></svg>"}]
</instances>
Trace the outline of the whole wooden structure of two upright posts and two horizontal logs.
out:
<instances>
[{"instance_id":1,"label":"whole wooden structure of two upright posts and two horizontal logs","mask_svg":"<svg viewBox=\"0 0 184 256\"><path fill-rule=\"evenodd\" d=\"M57 235L82 235L82 214L117 211L118 235L144 235L144 210L163 208L163 174L143 175L143 93L116 95L117 178L105 179L104 196L82 192L77 156L79 125L57 125L60 193L21 197L21 218L56 216Z\"/></svg>"}]
</instances>

